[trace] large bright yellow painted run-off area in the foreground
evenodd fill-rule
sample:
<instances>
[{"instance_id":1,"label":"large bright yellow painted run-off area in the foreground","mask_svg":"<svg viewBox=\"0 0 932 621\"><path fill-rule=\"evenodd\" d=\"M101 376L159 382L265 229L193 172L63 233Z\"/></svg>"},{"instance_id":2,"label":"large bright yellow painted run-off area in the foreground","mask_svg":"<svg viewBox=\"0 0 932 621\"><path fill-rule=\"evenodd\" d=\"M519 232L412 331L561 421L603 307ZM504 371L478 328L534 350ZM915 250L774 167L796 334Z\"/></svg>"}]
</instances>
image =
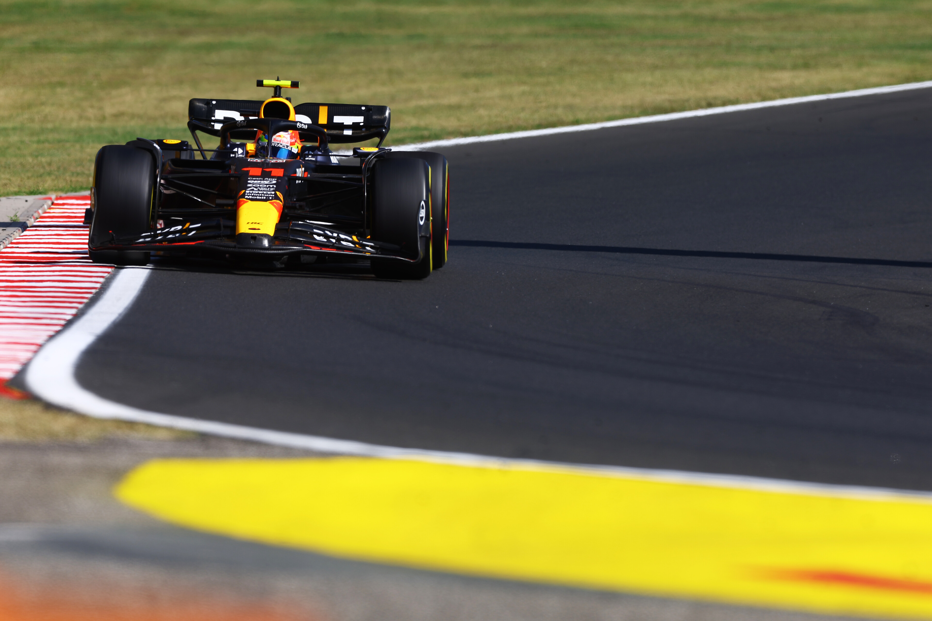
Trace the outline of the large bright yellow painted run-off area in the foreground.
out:
<instances>
[{"instance_id":1,"label":"large bright yellow painted run-off area in the foreground","mask_svg":"<svg viewBox=\"0 0 932 621\"><path fill-rule=\"evenodd\" d=\"M822 613L932 618L932 500L532 464L157 460L117 497L351 559Z\"/></svg>"}]
</instances>

